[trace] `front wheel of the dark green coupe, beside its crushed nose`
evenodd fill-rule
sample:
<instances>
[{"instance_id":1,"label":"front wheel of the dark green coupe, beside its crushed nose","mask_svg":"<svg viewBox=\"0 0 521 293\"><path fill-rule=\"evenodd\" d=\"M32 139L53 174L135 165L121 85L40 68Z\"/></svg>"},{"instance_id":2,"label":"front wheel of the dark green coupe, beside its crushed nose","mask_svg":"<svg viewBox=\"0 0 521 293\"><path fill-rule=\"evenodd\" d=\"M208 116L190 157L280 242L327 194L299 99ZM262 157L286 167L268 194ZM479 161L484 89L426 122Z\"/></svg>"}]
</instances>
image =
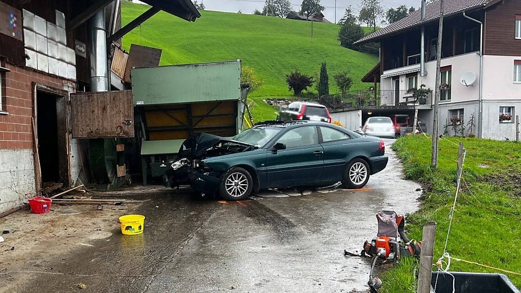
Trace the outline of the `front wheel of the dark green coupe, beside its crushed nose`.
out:
<instances>
[{"instance_id":1,"label":"front wheel of the dark green coupe, beside its crushed nose","mask_svg":"<svg viewBox=\"0 0 521 293\"><path fill-rule=\"evenodd\" d=\"M243 168L233 167L222 175L219 193L222 198L235 201L249 197L252 189L252 175Z\"/></svg>"}]
</instances>

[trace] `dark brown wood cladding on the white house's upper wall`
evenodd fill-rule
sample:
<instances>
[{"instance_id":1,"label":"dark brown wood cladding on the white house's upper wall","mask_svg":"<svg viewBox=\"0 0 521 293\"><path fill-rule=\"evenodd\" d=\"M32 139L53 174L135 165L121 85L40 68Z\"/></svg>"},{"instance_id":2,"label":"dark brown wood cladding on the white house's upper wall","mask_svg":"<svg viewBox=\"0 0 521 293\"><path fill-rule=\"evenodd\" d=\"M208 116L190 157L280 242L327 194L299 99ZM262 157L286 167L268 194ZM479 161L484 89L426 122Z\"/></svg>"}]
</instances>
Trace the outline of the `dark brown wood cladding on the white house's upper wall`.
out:
<instances>
[{"instance_id":1,"label":"dark brown wood cladding on the white house's upper wall","mask_svg":"<svg viewBox=\"0 0 521 293\"><path fill-rule=\"evenodd\" d=\"M485 55L521 55L521 40L515 39L516 15L521 15L519 0L505 0L487 10Z\"/></svg>"}]
</instances>

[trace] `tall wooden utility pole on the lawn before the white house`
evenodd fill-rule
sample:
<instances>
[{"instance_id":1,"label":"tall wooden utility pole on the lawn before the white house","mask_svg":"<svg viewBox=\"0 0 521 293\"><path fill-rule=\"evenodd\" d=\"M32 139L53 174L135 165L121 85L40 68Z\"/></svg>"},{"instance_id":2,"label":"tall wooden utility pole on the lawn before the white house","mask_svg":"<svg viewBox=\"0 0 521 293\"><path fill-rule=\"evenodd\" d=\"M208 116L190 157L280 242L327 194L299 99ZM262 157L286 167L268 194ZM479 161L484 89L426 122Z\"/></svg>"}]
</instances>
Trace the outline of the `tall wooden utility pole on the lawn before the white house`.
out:
<instances>
[{"instance_id":1,"label":"tall wooden utility pole on the lawn before the white house","mask_svg":"<svg viewBox=\"0 0 521 293\"><path fill-rule=\"evenodd\" d=\"M443 0L440 0L440 26L438 28L438 44L436 52L436 88L434 95L434 119L432 128L432 156L430 165L438 166L438 132L440 127L440 83L441 83L441 43L443 41Z\"/></svg>"}]
</instances>

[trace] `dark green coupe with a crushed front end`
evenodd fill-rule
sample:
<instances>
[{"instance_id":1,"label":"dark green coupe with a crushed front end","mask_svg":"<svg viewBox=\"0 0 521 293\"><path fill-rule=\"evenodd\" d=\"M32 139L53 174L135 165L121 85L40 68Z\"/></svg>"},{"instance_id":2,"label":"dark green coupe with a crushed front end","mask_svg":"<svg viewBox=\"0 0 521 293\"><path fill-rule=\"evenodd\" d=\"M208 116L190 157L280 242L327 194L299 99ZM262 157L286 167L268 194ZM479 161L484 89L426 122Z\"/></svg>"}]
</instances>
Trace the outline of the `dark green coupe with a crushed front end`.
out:
<instances>
[{"instance_id":1,"label":"dark green coupe with a crushed front end","mask_svg":"<svg viewBox=\"0 0 521 293\"><path fill-rule=\"evenodd\" d=\"M362 188L383 170L383 141L336 125L271 121L233 139L207 133L187 139L169 174L171 187L189 182L203 196L242 200L260 189L328 186Z\"/></svg>"}]
</instances>

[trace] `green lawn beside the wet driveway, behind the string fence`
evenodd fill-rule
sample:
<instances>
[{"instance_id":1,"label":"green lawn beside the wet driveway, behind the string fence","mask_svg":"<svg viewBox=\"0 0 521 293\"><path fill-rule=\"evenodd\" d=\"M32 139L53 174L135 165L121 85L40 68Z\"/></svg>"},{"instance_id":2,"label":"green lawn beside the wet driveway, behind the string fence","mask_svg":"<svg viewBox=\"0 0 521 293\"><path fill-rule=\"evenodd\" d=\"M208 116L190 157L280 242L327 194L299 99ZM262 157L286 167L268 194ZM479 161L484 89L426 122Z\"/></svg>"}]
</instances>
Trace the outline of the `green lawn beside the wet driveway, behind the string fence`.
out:
<instances>
[{"instance_id":1,"label":"green lawn beside the wet driveway, behind the string fence","mask_svg":"<svg viewBox=\"0 0 521 293\"><path fill-rule=\"evenodd\" d=\"M463 141L468 150L463 177L470 191L464 188L457 199L447 251L455 258L521 273L521 144L449 139L455 143ZM431 140L424 136L410 136L396 141L393 149L403 161L406 178L418 180L426 187L423 205L409 217L406 229L412 238L421 239L421 229L427 221L438 223L436 261L443 253L454 201L457 145L440 141L436 170L430 167L431 145ZM417 265L406 260L386 272L381 291L415 292L413 274ZM456 261L452 262L451 271L501 273ZM521 277L506 275L521 286Z\"/></svg>"}]
</instances>

